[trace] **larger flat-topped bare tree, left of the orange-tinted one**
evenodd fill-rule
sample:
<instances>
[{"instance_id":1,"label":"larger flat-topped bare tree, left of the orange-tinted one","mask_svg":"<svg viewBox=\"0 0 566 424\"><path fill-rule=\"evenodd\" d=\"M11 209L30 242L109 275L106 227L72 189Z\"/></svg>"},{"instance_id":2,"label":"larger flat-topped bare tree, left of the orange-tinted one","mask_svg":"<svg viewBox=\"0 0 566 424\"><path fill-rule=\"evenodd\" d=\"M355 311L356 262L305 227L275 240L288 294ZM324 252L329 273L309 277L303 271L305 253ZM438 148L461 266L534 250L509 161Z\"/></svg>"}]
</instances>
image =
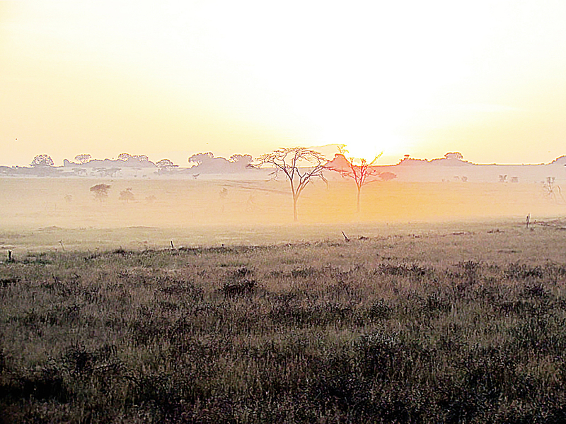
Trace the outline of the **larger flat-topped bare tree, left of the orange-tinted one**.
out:
<instances>
[{"instance_id":1,"label":"larger flat-topped bare tree, left of the orange-tinted one","mask_svg":"<svg viewBox=\"0 0 566 424\"><path fill-rule=\"evenodd\" d=\"M313 178L320 178L324 182L323 175L325 164L328 162L322 153L304 147L278 148L271 153L264 153L258 159L259 165L271 165L274 167L272 175L276 179L279 172L283 172L291 184L293 195L293 218L299 220L297 213L297 201L299 196ZM307 165L307 167L299 167Z\"/></svg>"}]
</instances>

